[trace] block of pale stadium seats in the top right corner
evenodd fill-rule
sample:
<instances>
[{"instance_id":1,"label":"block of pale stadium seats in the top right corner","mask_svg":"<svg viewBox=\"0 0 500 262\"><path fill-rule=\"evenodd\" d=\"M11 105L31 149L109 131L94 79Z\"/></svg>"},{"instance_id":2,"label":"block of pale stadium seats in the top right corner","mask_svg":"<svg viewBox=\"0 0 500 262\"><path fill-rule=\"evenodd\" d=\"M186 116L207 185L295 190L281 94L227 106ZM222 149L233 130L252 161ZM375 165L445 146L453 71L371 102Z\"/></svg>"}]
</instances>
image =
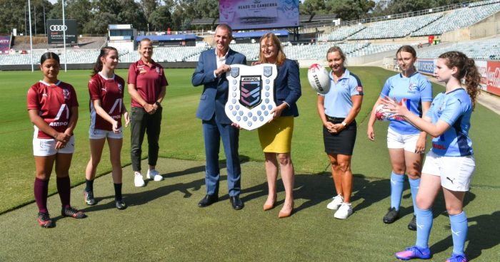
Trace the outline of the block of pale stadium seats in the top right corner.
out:
<instances>
[{"instance_id":1,"label":"block of pale stadium seats in the top right corner","mask_svg":"<svg viewBox=\"0 0 500 262\"><path fill-rule=\"evenodd\" d=\"M453 31L458 28L471 26L474 23L485 19L492 14L500 11L500 1L496 1L494 4L484 4L484 2L478 2L469 7L455 9L454 11L449 12L441 19L438 19L428 26L421 28L414 33L411 33L411 36L433 36L433 35L441 35L447 31Z\"/></svg>"}]
</instances>

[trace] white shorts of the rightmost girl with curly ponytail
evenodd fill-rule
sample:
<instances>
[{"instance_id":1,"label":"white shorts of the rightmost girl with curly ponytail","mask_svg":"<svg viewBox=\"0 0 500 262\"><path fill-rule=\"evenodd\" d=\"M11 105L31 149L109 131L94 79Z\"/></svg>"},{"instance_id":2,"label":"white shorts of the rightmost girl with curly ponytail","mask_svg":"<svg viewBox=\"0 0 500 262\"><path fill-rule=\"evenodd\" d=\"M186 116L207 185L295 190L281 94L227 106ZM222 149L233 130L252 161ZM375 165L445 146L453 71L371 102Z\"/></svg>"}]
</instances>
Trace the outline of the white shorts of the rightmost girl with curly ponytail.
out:
<instances>
[{"instance_id":1,"label":"white shorts of the rightmost girl with curly ponytail","mask_svg":"<svg viewBox=\"0 0 500 262\"><path fill-rule=\"evenodd\" d=\"M422 174L441 177L441 187L451 191L469 191L476 168L474 156L444 157L430 151L427 154Z\"/></svg>"}]
</instances>

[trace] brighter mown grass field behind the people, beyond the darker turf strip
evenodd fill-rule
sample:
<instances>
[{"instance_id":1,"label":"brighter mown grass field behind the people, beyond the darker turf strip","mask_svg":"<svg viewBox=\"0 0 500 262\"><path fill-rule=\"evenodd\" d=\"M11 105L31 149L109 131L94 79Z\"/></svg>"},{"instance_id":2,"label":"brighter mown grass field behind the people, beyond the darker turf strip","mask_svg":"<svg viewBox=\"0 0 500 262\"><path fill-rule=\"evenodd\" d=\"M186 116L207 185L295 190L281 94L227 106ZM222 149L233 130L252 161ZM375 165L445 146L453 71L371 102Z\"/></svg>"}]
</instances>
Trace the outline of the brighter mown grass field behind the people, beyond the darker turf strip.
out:
<instances>
[{"instance_id":1,"label":"brighter mown grass field behind the people, beyond the darker turf strip","mask_svg":"<svg viewBox=\"0 0 500 262\"><path fill-rule=\"evenodd\" d=\"M176 159L204 159L201 121L196 119L195 112L199 103L201 87L191 85L194 69L167 69L169 80L166 99L164 100L164 116L161 124L160 156ZM350 70L359 75L364 85L364 101L361 112L356 118L358 136L354 148L353 171L365 177L387 179L391 172L389 156L386 150L386 122L375 125L376 141L366 138L366 121L371 107L379 97L386 78L394 72L376 67L352 67ZM116 73L126 78L127 70ZM79 98L79 122L76 126L76 150L71 163L71 184L84 182L84 170L89 161L89 92L87 82L89 70L61 71L59 78L74 85ZM2 159L2 183L0 184L0 214L34 201L34 159L31 140L33 126L26 112L26 91L41 78L41 73L26 71L1 72L2 96L0 109L8 112L0 115L0 152ZM294 137L292 140L292 159L297 172L314 174L329 170L328 158L324 154L321 137L321 121L316 112L316 98L309 87L306 68L301 69L302 97L299 99L300 116L295 119ZM444 90L434 85L434 93ZM129 95L124 98L129 108ZM129 108L130 109L130 108ZM472 180L474 187L500 188L497 172L500 167L497 151L500 148L500 116L481 105L476 106L472 115L471 137L476 152L477 169ZM130 132L124 130L124 145L121 152L122 164L130 164ZM429 144L428 144L429 145ZM223 151L223 150L222 150ZM144 150L144 157L146 157ZM262 161L264 158L259 146L257 132L241 131L239 153L243 161ZM109 150L105 147L101 163L97 170L99 175L111 171ZM224 153L221 153L224 159ZM49 184L50 194L56 192L55 183Z\"/></svg>"}]
</instances>

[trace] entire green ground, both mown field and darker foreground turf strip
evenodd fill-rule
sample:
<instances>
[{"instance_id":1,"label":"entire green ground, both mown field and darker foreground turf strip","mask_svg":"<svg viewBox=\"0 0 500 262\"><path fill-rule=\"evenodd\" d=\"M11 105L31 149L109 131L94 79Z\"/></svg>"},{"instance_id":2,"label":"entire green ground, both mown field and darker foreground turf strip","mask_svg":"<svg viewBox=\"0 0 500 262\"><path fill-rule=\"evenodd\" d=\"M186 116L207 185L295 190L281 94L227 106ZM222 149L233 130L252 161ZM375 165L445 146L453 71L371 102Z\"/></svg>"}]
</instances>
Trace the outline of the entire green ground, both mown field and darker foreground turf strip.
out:
<instances>
[{"instance_id":1,"label":"entire green ground, both mown field and darker foreground turf strip","mask_svg":"<svg viewBox=\"0 0 500 262\"><path fill-rule=\"evenodd\" d=\"M128 166L129 130L125 130L122 164L129 209L122 212L114 209L111 178L106 175L96 181L96 194L101 196L97 206L84 206L82 186L73 190L72 202L85 208L89 218L82 221L62 219L52 230L39 229L35 221L36 206L29 204L34 201L34 159L31 149L33 127L26 112L26 92L41 78L41 73L0 72L0 108L6 112L0 116L3 138L0 140L3 167L0 229L4 236L0 240L0 261L44 258L59 261L65 258L63 246L71 248L71 254L78 257L76 260L82 261L366 261L368 258L394 261L392 253L414 242L414 232L406 229L411 208L402 209L404 218L393 225L381 222L389 206L391 167L385 142L387 124L376 124L375 142L366 138L367 115L384 81L394 72L372 67L350 69L361 78L365 95L356 118L359 130L352 163L356 176L355 214L348 220L334 220L331 211L324 208L334 195L334 187L324 154L316 94L309 88L305 69L301 70L303 95L298 103L300 116L295 121L292 142L297 174L296 213L289 219L279 220L280 207L261 211L266 182L261 163L263 154L255 131L241 131L240 138L239 152L244 162L241 196L246 202L245 209L233 211L227 197L207 209L197 208L197 201L205 194L201 121L195 117L201 88L191 85L193 69L169 69L166 76L170 85L164 101L160 137L162 159L158 165L166 177L164 182L150 182L141 189L133 187ZM71 70L59 75L61 80L74 85L79 95L76 152L70 170L74 185L84 182L84 169L89 160L89 95L86 88L89 73L89 70ZM126 78L126 70L117 73ZM440 85L434 85L435 93L442 90ZM128 96L126 101L129 101ZM466 252L476 261L494 261L500 256L500 237L491 234L499 232L496 221L500 219L500 181L497 179L500 164L496 156L500 148L499 120L499 115L481 105L476 106L472 117L471 137L477 168L466 201L470 226ZM111 170L107 152L105 149L99 174ZM49 190L51 194L56 191L54 179ZM224 183L220 194L226 194ZM280 194L282 198L283 193ZM26 204L29 205L24 206ZM53 216L57 215L58 205L58 196L52 196L49 209ZM19 206L23 207L16 209ZM404 206L411 206L409 190L405 191ZM436 221L431 250L436 253L433 259L444 261L451 253L451 238L442 199L434 210ZM46 240L54 245L47 247ZM26 247L40 253L36 256L31 252L23 253Z\"/></svg>"}]
</instances>

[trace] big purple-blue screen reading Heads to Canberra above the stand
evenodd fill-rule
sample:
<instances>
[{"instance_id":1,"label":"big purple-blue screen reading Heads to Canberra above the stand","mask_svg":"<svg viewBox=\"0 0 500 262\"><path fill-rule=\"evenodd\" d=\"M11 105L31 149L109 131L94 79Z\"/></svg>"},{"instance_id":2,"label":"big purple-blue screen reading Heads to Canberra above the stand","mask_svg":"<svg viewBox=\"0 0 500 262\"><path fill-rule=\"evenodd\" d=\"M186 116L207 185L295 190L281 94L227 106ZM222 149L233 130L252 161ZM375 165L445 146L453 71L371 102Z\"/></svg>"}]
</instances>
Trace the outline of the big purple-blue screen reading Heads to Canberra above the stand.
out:
<instances>
[{"instance_id":1,"label":"big purple-blue screen reading Heads to Canberra above the stand","mask_svg":"<svg viewBox=\"0 0 500 262\"><path fill-rule=\"evenodd\" d=\"M219 21L233 29L299 26L299 0L221 0Z\"/></svg>"}]
</instances>

